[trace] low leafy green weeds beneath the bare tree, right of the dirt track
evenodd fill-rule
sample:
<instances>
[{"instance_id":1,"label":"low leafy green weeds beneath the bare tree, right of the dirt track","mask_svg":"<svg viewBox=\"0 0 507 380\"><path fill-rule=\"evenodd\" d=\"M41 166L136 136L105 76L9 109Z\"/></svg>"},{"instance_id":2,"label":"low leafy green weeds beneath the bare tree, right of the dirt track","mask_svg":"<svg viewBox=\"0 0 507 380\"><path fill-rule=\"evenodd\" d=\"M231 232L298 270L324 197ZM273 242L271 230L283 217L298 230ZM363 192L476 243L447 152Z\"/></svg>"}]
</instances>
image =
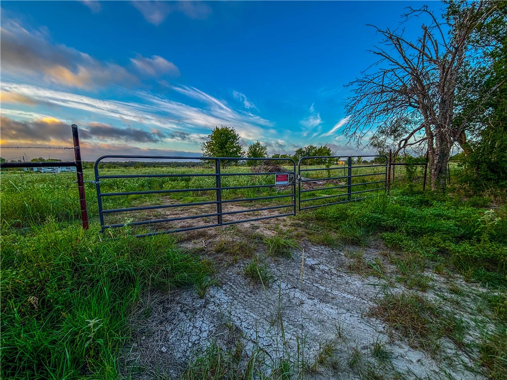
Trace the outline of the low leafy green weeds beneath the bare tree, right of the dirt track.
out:
<instances>
[{"instance_id":1,"label":"low leafy green weeds beneath the bare tree, right of the dirt track","mask_svg":"<svg viewBox=\"0 0 507 380\"><path fill-rule=\"evenodd\" d=\"M393 192L391 191L391 194ZM374 232L394 257L399 280L426 289L428 261L445 262L467 279L507 286L507 208L477 209L442 194L380 196L328 206L307 216L343 240L364 244Z\"/></svg>"}]
</instances>

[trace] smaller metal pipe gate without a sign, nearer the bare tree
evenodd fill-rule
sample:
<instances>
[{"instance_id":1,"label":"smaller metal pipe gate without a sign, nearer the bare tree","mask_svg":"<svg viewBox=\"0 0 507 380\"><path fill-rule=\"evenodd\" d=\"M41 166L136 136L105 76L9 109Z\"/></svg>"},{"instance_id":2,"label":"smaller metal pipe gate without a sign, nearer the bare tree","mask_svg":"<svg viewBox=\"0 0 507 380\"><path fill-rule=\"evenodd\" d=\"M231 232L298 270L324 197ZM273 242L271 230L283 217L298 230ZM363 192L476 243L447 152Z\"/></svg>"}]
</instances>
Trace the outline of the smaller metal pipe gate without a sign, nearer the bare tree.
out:
<instances>
[{"instance_id":1,"label":"smaller metal pipe gate without a sign, nearer the bare tree","mask_svg":"<svg viewBox=\"0 0 507 380\"><path fill-rule=\"evenodd\" d=\"M386 191L387 168L387 156L302 157L298 162L298 209L358 201L368 198L365 193Z\"/></svg>"}]
</instances>

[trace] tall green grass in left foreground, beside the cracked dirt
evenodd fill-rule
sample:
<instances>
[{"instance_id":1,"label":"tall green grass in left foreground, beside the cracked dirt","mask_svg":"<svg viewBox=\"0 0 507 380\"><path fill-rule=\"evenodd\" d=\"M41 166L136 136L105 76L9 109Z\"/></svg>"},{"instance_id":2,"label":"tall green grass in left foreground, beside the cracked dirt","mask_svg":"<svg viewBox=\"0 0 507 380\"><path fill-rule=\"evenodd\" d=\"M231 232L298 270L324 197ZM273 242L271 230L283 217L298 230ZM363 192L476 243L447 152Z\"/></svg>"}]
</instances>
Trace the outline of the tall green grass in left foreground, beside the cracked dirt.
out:
<instances>
[{"instance_id":1,"label":"tall green grass in left foreground, beside the cracked dirt","mask_svg":"<svg viewBox=\"0 0 507 380\"><path fill-rule=\"evenodd\" d=\"M198 283L174 238L104 239L97 226L2 234L2 378L118 378L140 294Z\"/></svg>"}]
</instances>

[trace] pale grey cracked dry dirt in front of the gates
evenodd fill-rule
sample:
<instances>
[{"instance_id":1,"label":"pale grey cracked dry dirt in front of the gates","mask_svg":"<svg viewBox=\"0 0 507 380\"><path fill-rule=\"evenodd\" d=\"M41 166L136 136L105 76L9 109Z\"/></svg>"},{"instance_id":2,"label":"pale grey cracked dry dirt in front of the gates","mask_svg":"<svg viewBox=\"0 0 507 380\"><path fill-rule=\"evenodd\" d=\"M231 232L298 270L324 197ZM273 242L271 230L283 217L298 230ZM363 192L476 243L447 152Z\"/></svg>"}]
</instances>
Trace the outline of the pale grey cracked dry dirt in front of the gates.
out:
<instances>
[{"instance_id":1,"label":"pale grey cracked dry dirt in front of the gates","mask_svg":"<svg viewBox=\"0 0 507 380\"><path fill-rule=\"evenodd\" d=\"M271 229L268 225L264 231L269 234ZM218 232L210 229L202 234L185 244L211 242ZM275 277L267 288L244 277L248 260L243 259L217 264L216 281L202 298L195 289L146 296L132 322L133 338L123 356L125 374L139 379L177 378L212 342L234 351L240 341L243 361L252 352L262 352L267 373L287 353L293 358L299 353L312 364L328 343L337 358L334 367L322 365L302 377L364 378L350 365L351 358L358 355L374 365L372 347L378 342L391 352L382 378L484 378L450 341L443 342L444 356L432 357L410 347L406 339L393 337L381 320L369 316L380 296L380 287L374 285L379 280L348 271L345 251L351 249L359 248L331 249L305 242L292 258L273 258L260 248L258 253L266 257ZM371 260L381 257L379 247L366 248L364 255ZM397 285L393 291L403 289Z\"/></svg>"}]
</instances>

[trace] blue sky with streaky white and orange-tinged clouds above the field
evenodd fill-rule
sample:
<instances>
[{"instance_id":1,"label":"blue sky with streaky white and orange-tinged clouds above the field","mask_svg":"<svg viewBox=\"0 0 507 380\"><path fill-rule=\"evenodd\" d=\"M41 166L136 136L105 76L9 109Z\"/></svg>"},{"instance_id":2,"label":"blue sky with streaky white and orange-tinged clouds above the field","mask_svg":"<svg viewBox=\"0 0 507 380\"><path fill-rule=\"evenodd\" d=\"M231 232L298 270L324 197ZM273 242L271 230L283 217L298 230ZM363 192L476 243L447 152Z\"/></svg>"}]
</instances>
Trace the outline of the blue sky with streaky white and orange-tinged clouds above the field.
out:
<instances>
[{"instance_id":1,"label":"blue sky with streaky white and orange-tinged clouds above the field","mask_svg":"<svg viewBox=\"0 0 507 380\"><path fill-rule=\"evenodd\" d=\"M348 154L344 85L375 61L379 39L367 24L395 28L423 4L3 1L2 144L66 146L76 123L87 160L193 155L227 125L270 154Z\"/></svg>"}]
</instances>

